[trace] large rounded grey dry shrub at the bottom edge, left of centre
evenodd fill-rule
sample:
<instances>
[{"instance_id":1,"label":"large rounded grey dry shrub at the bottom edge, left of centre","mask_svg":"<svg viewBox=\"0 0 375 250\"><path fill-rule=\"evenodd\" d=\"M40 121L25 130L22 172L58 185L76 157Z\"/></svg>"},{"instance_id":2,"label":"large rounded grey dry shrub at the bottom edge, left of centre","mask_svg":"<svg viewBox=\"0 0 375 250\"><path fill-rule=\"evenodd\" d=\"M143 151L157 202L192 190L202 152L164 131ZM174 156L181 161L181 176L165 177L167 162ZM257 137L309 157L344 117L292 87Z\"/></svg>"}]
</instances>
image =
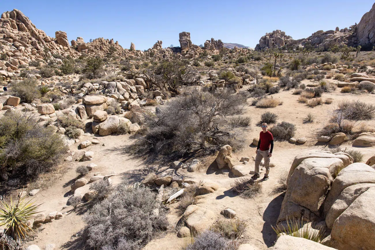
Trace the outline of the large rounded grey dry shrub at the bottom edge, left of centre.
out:
<instances>
[{"instance_id":1,"label":"large rounded grey dry shrub at the bottom edge, left of centre","mask_svg":"<svg viewBox=\"0 0 375 250\"><path fill-rule=\"evenodd\" d=\"M86 244L92 249L140 250L168 226L166 213L148 187L121 183L84 216ZM159 213L154 213L158 208Z\"/></svg>"}]
</instances>

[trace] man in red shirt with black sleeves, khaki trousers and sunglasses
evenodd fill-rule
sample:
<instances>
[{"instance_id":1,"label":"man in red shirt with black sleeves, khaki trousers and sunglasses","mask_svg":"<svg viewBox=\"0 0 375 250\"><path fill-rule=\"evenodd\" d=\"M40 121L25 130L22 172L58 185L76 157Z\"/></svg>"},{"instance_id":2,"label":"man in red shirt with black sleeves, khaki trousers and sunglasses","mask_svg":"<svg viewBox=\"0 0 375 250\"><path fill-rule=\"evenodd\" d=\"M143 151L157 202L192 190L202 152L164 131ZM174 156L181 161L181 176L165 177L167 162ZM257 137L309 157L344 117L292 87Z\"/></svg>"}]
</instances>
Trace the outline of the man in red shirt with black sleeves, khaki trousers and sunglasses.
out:
<instances>
[{"instance_id":1,"label":"man in red shirt with black sleeves, khaki trousers and sunglasses","mask_svg":"<svg viewBox=\"0 0 375 250\"><path fill-rule=\"evenodd\" d=\"M259 165L264 158L264 166L266 167L266 174L264 174L263 180L267 181L269 179L268 174L270 173L270 157L272 156L273 150L273 136L272 133L267 130L267 123L262 123L262 131L259 135L258 147L255 153L255 175L253 175L253 180L258 179L259 175Z\"/></svg>"}]
</instances>

